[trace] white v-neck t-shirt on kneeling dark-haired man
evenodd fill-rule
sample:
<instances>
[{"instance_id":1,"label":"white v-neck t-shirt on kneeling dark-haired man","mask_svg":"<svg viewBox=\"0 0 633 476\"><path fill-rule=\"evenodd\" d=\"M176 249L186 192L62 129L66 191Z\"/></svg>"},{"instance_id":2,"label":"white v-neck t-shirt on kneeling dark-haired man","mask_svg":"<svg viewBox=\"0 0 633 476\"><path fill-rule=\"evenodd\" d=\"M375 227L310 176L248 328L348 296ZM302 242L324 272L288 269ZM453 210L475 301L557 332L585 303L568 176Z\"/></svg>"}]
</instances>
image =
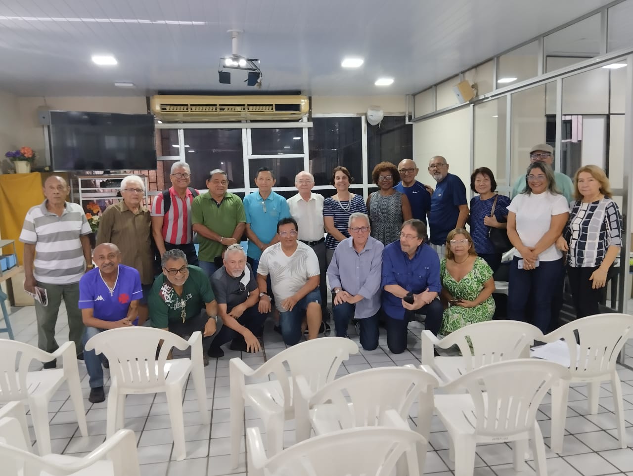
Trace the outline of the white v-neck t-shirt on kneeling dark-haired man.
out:
<instances>
[{"instance_id":1,"label":"white v-neck t-shirt on kneeling dark-haired man","mask_svg":"<svg viewBox=\"0 0 633 476\"><path fill-rule=\"evenodd\" d=\"M261 253L257 273L263 276L270 274L277 309L284 312L281 302L299 291L309 278L318 276L320 269L313 249L297 241L297 249L291 256L285 255L281 243L267 247Z\"/></svg>"}]
</instances>

